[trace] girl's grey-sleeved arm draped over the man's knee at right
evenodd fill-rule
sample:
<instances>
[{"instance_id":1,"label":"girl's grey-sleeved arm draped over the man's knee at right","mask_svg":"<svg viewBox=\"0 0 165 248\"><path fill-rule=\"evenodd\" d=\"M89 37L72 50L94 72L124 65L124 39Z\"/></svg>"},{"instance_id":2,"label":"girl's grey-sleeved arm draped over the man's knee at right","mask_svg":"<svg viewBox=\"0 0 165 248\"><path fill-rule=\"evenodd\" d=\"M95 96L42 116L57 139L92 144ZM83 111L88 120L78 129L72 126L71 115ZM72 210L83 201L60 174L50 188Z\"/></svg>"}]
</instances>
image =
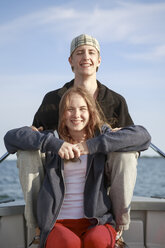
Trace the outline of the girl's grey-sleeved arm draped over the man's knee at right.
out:
<instances>
[{"instance_id":1,"label":"girl's grey-sleeved arm draped over the man's knee at right","mask_svg":"<svg viewBox=\"0 0 165 248\"><path fill-rule=\"evenodd\" d=\"M148 149L151 136L139 125L132 125L113 132L108 126L103 126L102 134L86 141L88 151L93 153L144 151Z\"/></svg>"}]
</instances>

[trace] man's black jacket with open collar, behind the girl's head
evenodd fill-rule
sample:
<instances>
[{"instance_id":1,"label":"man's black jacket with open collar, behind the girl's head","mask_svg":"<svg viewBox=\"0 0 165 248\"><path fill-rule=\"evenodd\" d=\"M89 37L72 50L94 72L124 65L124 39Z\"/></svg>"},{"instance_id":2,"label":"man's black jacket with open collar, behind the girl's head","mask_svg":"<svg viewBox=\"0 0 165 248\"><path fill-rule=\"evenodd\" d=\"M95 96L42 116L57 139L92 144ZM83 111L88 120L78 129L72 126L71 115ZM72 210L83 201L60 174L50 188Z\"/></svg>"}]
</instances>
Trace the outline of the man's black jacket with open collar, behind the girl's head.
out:
<instances>
[{"instance_id":1,"label":"man's black jacket with open collar, behind the girl's head","mask_svg":"<svg viewBox=\"0 0 165 248\"><path fill-rule=\"evenodd\" d=\"M74 84L74 80L66 83L62 88L47 93L41 106L34 116L33 125L43 126L44 129L58 128L59 103L63 94ZM106 120L112 126L126 127L133 124L128 113L125 99L118 93L108 89L105 85L97 81L99 92L97 102L100 105Z\"/></svg>"}]
</instances>

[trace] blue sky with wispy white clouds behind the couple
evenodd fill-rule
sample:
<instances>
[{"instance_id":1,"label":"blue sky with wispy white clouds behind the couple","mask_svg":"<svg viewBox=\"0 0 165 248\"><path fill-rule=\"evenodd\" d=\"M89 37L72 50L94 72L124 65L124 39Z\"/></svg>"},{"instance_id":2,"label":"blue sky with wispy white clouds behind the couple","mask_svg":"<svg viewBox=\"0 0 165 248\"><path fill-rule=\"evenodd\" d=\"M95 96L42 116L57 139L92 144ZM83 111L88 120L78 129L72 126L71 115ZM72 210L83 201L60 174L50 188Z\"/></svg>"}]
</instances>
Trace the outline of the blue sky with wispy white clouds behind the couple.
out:
<instances>
[{"instance_id":1,"label":"blue sky with wispy white clouds behind the couple","mask_svg":"<svg viewBox=\"0 0 165 248\"><path fill-rule=\"evenodd\" d=\"M135 124L165 151L164 24L160 0L1 1L0 156L5 133L31 125L44 95L74 77L70 42L82 33L100 42L97 79L125 97Z\"/></svg>"}]
</instances>

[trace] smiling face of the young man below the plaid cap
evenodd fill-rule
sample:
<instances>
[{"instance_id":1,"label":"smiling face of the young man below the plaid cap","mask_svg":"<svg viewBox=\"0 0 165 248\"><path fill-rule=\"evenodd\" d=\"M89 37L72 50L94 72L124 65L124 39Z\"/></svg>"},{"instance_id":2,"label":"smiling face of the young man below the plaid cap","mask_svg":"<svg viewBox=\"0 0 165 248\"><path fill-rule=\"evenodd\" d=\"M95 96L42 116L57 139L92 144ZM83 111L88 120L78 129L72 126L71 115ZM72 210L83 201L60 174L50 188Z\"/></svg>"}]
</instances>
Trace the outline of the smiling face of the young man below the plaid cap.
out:
<instances>
[{"instance_id":1,"label":"smiling face of the young man below the plaid cap","mask_svg":"<svg viewBox=\"0 0 165 248\"><path fill-rule=\"evenodd\" d=\"M73 68L75 76L91 76L96 74L100 62L101 58L97 49L89 45L79 46L69 57L69 63Z\"/></svg>"}]
</instances>

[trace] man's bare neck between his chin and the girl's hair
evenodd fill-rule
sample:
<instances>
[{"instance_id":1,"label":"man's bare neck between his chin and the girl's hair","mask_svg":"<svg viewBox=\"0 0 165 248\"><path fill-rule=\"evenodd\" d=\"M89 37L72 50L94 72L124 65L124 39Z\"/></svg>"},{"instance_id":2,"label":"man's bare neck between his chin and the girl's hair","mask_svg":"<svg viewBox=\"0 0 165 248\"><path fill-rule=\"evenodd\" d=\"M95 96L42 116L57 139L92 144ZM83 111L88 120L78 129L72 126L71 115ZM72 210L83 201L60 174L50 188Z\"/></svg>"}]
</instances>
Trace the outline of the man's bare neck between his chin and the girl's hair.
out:
<instances>
[{"instance_id":1,"label":"man's bare neck between his chin and the girl's hair","mask_svg":"<svg viewBox=\"0 0 165 248\"><path fill-rule=\"evenodd\" d=\"M82 86L94 97L97 97L97 81L96 77L76 78L74 79L74 86Z\"/></svg>"}]
</instances>

